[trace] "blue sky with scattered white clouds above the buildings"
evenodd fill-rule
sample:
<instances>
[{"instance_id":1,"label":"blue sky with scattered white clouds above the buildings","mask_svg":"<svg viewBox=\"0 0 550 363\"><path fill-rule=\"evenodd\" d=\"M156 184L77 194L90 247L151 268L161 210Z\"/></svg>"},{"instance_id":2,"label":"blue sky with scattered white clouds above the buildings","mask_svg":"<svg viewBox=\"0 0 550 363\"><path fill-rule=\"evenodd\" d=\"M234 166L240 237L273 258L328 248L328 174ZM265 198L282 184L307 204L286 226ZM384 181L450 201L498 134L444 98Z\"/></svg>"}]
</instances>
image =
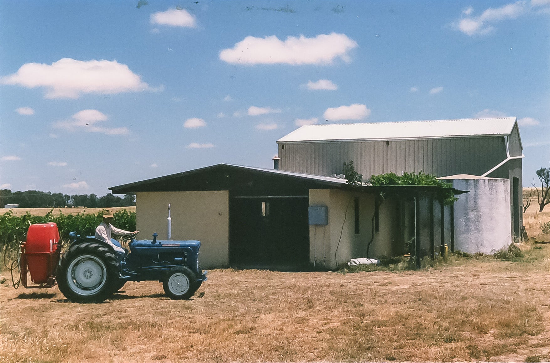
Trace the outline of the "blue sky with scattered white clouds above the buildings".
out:
<instances>
[{"instance_id":1,"label":"blue sky with scattered white clouds above the buildings","mask_svg":"<svg viewBox=\"0 0 550 363\"><path fill-rule=\"evenodd\" d=\"M139 7L138 7L139 6ZM550 1L0 1L0 188L272 167L302 124L516 116L550 167Z\"/></svg>"}]
</instances>

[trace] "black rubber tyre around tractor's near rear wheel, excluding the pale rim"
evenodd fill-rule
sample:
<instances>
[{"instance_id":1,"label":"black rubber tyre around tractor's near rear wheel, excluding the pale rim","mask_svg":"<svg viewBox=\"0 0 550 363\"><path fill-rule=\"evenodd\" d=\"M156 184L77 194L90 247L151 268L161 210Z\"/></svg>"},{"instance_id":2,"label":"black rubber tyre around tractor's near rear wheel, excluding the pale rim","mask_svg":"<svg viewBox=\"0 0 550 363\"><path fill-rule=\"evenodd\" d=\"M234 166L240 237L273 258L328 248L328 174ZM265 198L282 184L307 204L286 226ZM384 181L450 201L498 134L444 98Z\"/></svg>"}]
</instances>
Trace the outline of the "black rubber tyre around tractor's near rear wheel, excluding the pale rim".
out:
<instances>
[{"instance_id":1,"label":"black rubber tyre around tractor's near rear wheel, excluding the pale rim","mask_svg":"<svg viewBox=\"0 0 550 363\"><path fill-rule=\"evenodd\" d=\"M80 295L74 292L67 281L67 268L70 262L80 255L94 255L100 258L107 269L107 281L105 286L94 295ZM79 244L73 244L69 247L69 250L63 255L59 268L57 269L57 284L59 291L65 298L73 301L74 303L101 303L113 294L116 285L119 283L119 263L117 257L106 246L95 242L84 242ZM118 290L118 289L117 289Z\"/></svg>"}]
</instances>

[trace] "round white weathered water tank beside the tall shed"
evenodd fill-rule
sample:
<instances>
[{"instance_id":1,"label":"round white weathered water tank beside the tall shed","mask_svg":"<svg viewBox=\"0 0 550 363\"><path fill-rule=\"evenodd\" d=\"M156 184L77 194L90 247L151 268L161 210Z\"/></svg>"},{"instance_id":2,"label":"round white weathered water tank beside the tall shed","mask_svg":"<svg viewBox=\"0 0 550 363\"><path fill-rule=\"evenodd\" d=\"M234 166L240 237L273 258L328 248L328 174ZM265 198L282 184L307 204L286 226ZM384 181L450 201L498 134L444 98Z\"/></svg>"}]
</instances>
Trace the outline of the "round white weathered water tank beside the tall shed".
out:
<instances>
[{"instance_id":1,"label":"round white weathered water tank beside the tall shed","mask_svg":"<svg viewBox=\"0 0 550 363\"><path fill-rule=\"evenodd\" d=\"M494 254L512 242L509 179L465 174L438 179L469 191L454 204L455 250Z\"/></svg>"}]
</instances>

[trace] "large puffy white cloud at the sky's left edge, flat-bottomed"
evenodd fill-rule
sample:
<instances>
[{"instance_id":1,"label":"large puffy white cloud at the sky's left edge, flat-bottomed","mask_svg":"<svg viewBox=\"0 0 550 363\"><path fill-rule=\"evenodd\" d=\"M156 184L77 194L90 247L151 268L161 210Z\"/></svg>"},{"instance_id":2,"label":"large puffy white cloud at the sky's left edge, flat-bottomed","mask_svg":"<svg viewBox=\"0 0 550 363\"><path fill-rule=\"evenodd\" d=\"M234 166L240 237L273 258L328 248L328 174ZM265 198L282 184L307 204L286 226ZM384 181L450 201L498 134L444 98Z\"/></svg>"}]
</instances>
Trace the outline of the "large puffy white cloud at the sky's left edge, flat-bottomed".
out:
<instances>
[{"instance_id":1,"label":"large puffy white cloud at the sky's left edge, flat-bottomed","mask_svg":"<svg viewBox=\"0 0 550 363\"><path fill-rule=\"evenodd\" d=\"M150 90L128 65L117 61L77 61L63 58L51 65L26 63L0 83L45 87L46 98L78 98L81 94L118 94Z\"/></svg>"}]
</instances>

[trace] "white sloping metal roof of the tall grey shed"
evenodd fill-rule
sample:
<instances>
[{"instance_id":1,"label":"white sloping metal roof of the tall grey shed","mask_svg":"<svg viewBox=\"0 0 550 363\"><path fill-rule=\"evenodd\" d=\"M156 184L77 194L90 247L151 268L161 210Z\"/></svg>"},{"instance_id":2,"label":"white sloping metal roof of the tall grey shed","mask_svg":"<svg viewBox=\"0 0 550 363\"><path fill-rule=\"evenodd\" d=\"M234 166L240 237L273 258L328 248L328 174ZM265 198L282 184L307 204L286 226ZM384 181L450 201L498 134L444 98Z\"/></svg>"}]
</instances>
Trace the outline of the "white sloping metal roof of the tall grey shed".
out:
<instances>
[{"instance_id":1,"label":"white sloping metal roof of the tall grey shed","mask_svg":"<svg viewBox=\"0 0 550 363\"><path fill-rule=\"evenodd\" d=\"M504 136L511 133L515 123L515 117L496 117L364 124L305 125L283 136L283 138L277 140L277 143L331 140L434 139L480 135Z\"/></svg>"}]
</instances>

